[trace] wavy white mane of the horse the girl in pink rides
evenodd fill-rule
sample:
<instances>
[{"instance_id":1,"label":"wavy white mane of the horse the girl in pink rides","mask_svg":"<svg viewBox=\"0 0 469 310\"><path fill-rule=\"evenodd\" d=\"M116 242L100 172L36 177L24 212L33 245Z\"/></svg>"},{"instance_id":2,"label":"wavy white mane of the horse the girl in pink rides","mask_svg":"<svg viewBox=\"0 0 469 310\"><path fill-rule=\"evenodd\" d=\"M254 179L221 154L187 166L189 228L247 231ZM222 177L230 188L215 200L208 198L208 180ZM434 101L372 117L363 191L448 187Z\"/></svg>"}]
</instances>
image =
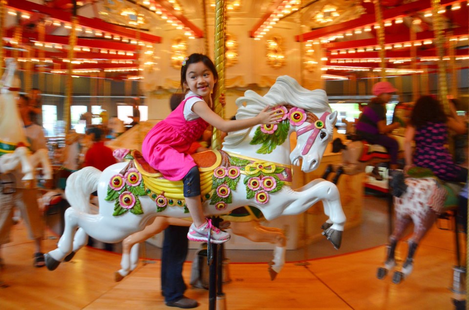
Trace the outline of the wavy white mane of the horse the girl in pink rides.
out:
<instances>
[{"instance_id":1,"label":"wavy white mane of the horse the girl in pink rides","mask_svg":"<svg viewBox=\"0 0 469 310\"><path fill-rule=\"evenodd\" d=\"M322 89L310 91L289 76L277 77L275 84L264 96L247 90L243 97L236 99L238 107L236 119L251 118L258 115L267 106L292 105L312 113L332 112L326 92ZM228 133L223 145L235 146L249 134L252 128Z\"/></svg>"}]
</instances>

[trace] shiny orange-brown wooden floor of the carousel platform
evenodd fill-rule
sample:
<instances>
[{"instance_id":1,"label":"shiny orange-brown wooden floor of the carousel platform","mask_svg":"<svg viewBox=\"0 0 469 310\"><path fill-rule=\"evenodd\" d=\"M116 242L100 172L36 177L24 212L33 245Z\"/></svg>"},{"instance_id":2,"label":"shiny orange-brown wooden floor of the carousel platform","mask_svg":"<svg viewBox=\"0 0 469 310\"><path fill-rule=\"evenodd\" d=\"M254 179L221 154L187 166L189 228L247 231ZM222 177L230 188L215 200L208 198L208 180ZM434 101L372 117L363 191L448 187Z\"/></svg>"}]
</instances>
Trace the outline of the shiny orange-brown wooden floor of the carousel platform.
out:
<instances>
[{"instance_id":1,"label":"shiny orange-brown wooden floor of the carousel platform","mask_svg":"<svg viewBox=\"0 0 469 310\"><path fill-rule=\"evenodd\" d=\"M0 271L0 309L174 309L164 305L160 292L160 262L140 264L116 283L120 254L84 248L57 270L34 268L33 243L21 224L15 225L13 242L1 251L6 267ZM266 264L230 264L232 282L224 285L226 309L362 309L450 310L451 298L465 296L449 291L455 262L451 232L434 227L417 250L414 271L403 283L376 278L385 247L308 261L287 263L275 281ZM44 250L57 240L44 240ZM463 247L463 249L465 249ZM398 249L405 256L406 244ZM191 263L184 266L189 283ZM208 309L208 291L188 289L186 295Z\"/></svg>"}]
</instances>

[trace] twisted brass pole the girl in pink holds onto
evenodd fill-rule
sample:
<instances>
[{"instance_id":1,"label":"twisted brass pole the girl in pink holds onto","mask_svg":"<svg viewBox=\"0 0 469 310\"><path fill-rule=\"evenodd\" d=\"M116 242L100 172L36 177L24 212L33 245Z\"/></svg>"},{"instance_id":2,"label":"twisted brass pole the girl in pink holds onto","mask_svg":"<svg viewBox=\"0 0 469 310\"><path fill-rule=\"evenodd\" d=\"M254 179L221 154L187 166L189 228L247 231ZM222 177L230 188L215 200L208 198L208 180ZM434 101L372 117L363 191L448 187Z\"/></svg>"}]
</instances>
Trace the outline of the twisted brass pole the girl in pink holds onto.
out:
<instances>
[{"instance_id":1,"label":"twisted brass pole the girl in pink holds onto","mask_svg":"<svg viewBox=\"0 0 469 310\"><path fill-rule=\"evenodd\" d=\"M225 93L225 21L226 4L224 0L215 1L215 46L214 63L218 72L217 89L213 102L213 112L224 118L225 111L220 103L220 95ZM207 33L205 33L207 36ZM213 127L212 149L221 148L221 132Z\"/></svg>"}]
</instances>

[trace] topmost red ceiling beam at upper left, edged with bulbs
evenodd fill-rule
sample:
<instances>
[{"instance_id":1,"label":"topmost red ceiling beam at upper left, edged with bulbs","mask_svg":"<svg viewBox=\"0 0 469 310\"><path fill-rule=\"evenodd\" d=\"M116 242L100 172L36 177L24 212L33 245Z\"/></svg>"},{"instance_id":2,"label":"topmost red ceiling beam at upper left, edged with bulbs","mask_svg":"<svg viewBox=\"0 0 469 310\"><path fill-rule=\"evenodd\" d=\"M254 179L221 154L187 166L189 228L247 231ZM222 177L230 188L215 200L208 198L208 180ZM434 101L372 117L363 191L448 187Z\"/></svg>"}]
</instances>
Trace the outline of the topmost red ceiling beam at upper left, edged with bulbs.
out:
<instances>
[{"instance_id":1,"label":"topmost red ceiling beam at upper left, edged with bulbs","mask_svg":"<svg viewBox=\"0 0 469 310\"><path fill-rule=\"evenodd\" d=\"M54 19L59 19L64 22L71 22L72 15L69 12L64 12L63 10L57 10L54 8L47 7L45 5L37 4L27 0L14 0L9 1L6 5L9 8L20 10L23 12L28 12L30 14L41 13L50 16ZM118 26L110 24L102 19L90 19L84 16L77 16L78 23L81 26L93 28L96 30L101 30L104 32L109 32L111 34L128 37L130 39L137 39L137 31L129 29L123 26ZM150 43L161 43L161 37L151 35L146 32L140 32L140 39L142 41ZM125 43L123 43L125 44Z\"/></svg>"}]
</instances>

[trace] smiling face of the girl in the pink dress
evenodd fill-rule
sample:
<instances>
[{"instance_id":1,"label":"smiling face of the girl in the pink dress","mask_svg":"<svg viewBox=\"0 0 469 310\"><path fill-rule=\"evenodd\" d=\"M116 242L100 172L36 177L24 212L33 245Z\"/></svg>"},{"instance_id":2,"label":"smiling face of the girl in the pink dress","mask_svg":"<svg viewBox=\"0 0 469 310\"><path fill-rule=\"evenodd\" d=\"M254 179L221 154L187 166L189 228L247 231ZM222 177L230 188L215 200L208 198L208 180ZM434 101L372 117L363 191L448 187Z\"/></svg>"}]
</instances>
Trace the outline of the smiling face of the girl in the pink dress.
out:
<instances>
[{"instance_id":1,"label":"smiling face of the girl in the pink dress","mask_svg":"<svg viewBox=\"0 0 469 310\"><path fill-rule=\"evenodd\" d=\"M215 85L216 79L212 71L202 62L191 63L187 67L186 81L184 86L188 87L194 94L203 97L207 101Z\"/></svg>"}]
</instances>

